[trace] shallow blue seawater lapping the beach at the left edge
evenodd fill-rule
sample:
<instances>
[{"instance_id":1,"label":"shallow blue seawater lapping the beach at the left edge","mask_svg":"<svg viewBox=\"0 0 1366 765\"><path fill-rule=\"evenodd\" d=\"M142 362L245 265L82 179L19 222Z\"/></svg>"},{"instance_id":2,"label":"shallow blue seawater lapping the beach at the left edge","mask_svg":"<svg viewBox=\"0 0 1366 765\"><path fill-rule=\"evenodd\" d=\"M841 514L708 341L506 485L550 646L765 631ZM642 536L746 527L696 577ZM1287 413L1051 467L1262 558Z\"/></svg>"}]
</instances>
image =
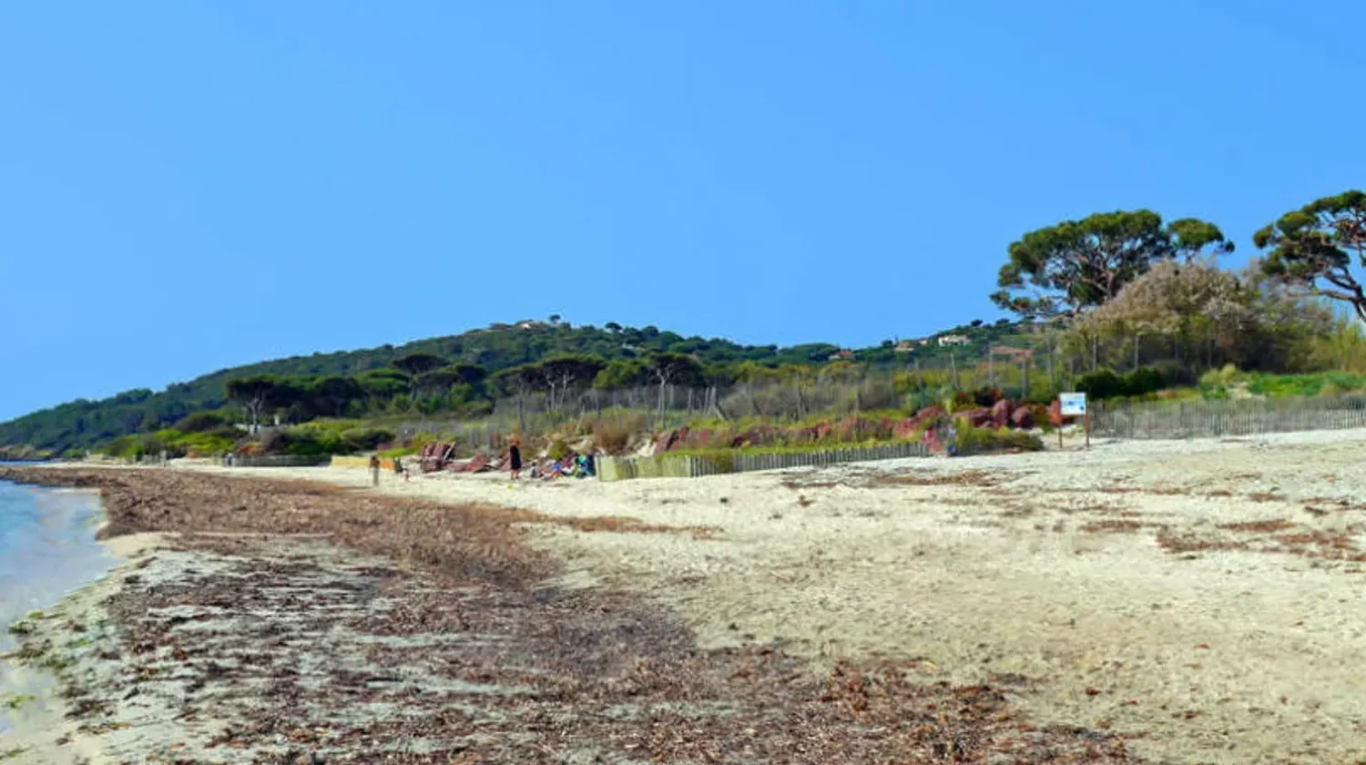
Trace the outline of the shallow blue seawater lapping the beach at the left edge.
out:
<instances>
[{"instance_id":1,"label":"shallow blue seawater lapping the beach at the left edge","mask_svg":"<svg viewBox=\"0 0 1366 765\"><path fill-rule=\"evenodd\" d=\"M93 492L0 481L0 653L15 648L12 622L56 605L117 563L94 538L102 516ZM42 673L0 660L0 731L16 721L5 701L41 695L48 683Z\"/></svg>"}]
</instances>

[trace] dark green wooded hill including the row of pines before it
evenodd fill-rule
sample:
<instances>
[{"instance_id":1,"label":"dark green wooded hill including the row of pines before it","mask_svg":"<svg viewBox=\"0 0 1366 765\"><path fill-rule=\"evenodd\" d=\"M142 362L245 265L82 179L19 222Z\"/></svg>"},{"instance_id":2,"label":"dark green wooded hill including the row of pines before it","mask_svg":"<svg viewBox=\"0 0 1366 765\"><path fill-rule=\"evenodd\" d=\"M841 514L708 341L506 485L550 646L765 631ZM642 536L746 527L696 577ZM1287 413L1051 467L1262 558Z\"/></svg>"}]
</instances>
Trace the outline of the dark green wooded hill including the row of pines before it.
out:
<instances>
[{"instance_id":1,"label":"dark green wooded hill including the row of pines before it","mask_svg":"<svg viewBox=\"0 0 1366 765\"><path fill-rule=\"evenodd\" d=\"M1005 322L978 321L951 332L971 337L970 347L958 350L960 355L979 357L986 344L1014 329ZM893 346L887 340L855 351L855 358L891 363L897 358ZM604 389L660 385L661 372L671 384L720 384L744 365L805 367L824 363L840 350L829 343L746 346L720 337L684 337L656 326L493 324L404 346L221 369L161 392L135 389L102 400L79 399L0 423L0 444L56 454L81 451L120 436L156 433L191 414L224 407L232 411L220 417L250 423L265 423L266 413L279 413L287 422L395 411L478 417L489 411L492 398L548 389L545 362L555 369L559 393L590 384ZM937 346L926 351L926 358L948 352Z\"/></svg>"}]
</instances>

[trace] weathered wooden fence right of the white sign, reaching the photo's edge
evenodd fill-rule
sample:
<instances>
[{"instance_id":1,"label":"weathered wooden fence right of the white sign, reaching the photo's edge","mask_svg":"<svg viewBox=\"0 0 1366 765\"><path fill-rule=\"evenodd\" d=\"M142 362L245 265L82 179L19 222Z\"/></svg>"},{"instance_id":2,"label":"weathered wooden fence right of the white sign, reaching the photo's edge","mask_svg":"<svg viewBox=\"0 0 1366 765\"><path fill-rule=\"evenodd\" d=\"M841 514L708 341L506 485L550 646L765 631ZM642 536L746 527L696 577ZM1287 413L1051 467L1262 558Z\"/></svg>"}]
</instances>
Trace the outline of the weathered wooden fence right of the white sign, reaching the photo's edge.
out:
<instances>
[{"instance_id":1,"label":"weathered wooden fence right of the white sign, reaching the photo's edge","mask_svg":"<svg viewBox=\"0 0 1366 765\"><path fill-rule=\"evenodd\" d=\"M1101 439L1201 439L1366 428L1366 396L1091 404Z\"/></svg>"}]
</instances>

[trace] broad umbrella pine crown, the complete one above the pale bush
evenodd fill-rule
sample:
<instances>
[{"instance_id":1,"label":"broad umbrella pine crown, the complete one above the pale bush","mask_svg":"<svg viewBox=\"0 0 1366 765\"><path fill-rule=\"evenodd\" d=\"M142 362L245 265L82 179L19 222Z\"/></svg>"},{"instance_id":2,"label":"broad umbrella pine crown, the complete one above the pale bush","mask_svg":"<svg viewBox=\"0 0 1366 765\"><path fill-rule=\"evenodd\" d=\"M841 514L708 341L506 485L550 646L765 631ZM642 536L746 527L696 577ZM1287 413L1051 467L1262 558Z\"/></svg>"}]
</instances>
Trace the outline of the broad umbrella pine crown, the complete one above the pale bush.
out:
<instances>
[{"instance_id":1,"label":"broad umbrella pine crown, the complete one above the pale bush","mask_svg":"<svg viewBox=\"0 0 1366 765\"><path fill-rule=\"evenodd\" d=\"M1096 213L1031 231L1012 243L992 301L1026 320L1076 317L1117 295L1156 262L1232 250L1216 225L1201 220L1162 225L1152 210Z\"/></svg>"}]
</instances>

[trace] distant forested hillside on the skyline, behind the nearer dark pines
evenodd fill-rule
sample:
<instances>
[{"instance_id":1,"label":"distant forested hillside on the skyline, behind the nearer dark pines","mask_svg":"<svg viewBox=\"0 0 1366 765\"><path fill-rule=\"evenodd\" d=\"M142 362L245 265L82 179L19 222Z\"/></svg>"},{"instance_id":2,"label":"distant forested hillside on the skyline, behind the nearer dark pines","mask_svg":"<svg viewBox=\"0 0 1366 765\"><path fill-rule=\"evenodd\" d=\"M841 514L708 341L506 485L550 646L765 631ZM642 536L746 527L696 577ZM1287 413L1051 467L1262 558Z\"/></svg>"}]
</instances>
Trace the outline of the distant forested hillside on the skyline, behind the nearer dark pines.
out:
<instances>
[{"instance_id":1,"label":"distant forested hillside on the skyline, behind the nearer dark pines","mask_svg":"<svg viewBox=\"0 0 1366 765\"><path fill-rule=\"evenodd\" d=\"M981 358L992 343L1009 340L1018 326L997 322L959 326L945 333L971 339L956 348L960 362ZM937 344L914 344L914 351L897 352L889 339L870 348L851 348L854 359L873 366L885 366L915 358L933 359L947 355L948 348ZM176 382L161 392L134 389L102 400L78 399L71 403L36 411L0 423L0 455L10 447L63 452L85 449L111 439L165 428L187 414L220 408L227 403L224 385L228 380L255 374L285 377L354 376L367 370L385 369L411 354L433 354L451 362L478 365L489 374L519 365L535 363L556 354L583 354L607 361L624 361L650 352L682 352L702 365L757 362L768 366L818 365L841 351L829 343L805 343L791 347L746 346L721 337L682 336L654 326L631 328L571 326L567 322L522 321L493 324L462 335L415 340L403 346L381 346L358 351L313 354L253 365L220 369L189 382Z\"/></svg>"}]
</instances>

